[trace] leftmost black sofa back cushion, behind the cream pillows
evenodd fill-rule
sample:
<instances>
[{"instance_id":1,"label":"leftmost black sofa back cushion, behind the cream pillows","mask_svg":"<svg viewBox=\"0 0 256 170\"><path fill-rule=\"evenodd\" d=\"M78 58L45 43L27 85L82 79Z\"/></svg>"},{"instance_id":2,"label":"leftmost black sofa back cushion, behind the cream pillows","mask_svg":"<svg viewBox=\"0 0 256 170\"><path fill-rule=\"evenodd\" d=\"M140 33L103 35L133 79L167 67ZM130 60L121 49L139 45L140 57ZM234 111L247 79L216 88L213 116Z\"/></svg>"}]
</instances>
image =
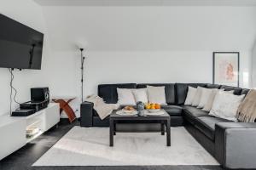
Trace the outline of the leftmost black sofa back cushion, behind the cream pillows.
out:
<instances>
[{"instance_id":1,"label":"leftmost black sofa back cushion, behind the cream pillows","mask_svg":"<svg viewBox=\"0 0 256 170\"><path fill-rule=\"evenodd\" d=\"M100 84L98 86L98 95L107 104L116 104L118 102L117 88L137 88L137 84Z\"/></svg>"}]
</instances>

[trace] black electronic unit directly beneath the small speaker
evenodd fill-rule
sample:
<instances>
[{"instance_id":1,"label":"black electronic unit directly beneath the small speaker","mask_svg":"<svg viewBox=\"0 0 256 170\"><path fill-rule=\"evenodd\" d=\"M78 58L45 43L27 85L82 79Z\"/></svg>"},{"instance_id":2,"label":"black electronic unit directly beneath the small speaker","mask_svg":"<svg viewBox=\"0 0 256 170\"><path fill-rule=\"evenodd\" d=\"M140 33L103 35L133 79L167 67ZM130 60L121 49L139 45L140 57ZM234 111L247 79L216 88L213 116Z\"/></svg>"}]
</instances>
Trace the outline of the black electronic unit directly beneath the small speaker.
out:
<instances>
[{"instance_id":1,"label":"black electronic unit directly beneath the small speaker","mask_svg":"<svg viewBox=\"0 0 256 170\"><path fill-rule=\"evenodd\" d=\"M28 101L26 103L20 104L20 110L23 109L32 109L37 111L41 111L44 108L46 108L49 104L48 100L44 100L44 101Z\"/></svg>"}]
</instances>

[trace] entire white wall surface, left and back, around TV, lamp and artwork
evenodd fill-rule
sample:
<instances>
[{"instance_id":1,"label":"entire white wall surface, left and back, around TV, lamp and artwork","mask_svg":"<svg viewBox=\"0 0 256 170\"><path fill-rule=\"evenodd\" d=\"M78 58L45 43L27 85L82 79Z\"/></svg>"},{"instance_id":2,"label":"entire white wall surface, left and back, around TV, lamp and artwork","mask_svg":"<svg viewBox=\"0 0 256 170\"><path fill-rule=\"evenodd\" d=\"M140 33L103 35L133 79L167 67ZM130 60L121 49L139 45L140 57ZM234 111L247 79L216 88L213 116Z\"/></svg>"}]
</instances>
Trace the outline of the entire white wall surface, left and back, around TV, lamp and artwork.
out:
<instances>
[{"instance_id":1,"label":"entire white wall surface, left and back, around TV, lamp and artwork","mask_svg":"<svg viewBox=\"0 0 256 170\"><path fill-rule=\"evenodd\" d=\"M15 71L20 102L36 86L80 97L78 39L89 44L84 96L100 83L212 82L212 52L221 50L241 52L241 87L251 85L256 8L46 7L42 15L30 0L2 0L0 12L45 33L42 70ZM0 77L2 114L9 111L8 70L0 68Z\"/></svg>"}]
</instances>

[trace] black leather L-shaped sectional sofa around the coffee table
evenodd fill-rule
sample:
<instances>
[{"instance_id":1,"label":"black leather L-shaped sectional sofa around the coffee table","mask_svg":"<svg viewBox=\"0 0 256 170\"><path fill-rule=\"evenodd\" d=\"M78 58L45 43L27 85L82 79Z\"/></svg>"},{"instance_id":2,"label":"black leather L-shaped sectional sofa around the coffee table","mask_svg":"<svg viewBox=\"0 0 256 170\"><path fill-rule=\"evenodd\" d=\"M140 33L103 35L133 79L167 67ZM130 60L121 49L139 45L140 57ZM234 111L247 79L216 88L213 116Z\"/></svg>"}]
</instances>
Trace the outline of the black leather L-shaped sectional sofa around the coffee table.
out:
<instances>
[{"instance_id":1,"label":"black leather L-shaped sectional sofa around the coffee table","mask_svg":"<svg viewBox=\"0 0 256 170\"><path fill-rule=\"evenodd\" d=\"M256 169L256 123L230 122L208 115L193 106L183 105L187 97L188 87L224 88L234 90L234 94L247 94L249 89L236 88L208 83L157 83L157 84L101 84L98 95L107 103L118 101L116 88L146 88L151 86L165 86L166 103L162 108L171 116L171 125L184 126L195 139L214 156L226 169ZM127 126L125 126L125 123ZM119 130L159 130L157 124L145 126L144 122L129 126L129 122L118 124ZM81 104L82 127L108 127L108 117L101 120L93 104ZM132 128L132 129L131 129Z\"/></svg>"}]
</instances>

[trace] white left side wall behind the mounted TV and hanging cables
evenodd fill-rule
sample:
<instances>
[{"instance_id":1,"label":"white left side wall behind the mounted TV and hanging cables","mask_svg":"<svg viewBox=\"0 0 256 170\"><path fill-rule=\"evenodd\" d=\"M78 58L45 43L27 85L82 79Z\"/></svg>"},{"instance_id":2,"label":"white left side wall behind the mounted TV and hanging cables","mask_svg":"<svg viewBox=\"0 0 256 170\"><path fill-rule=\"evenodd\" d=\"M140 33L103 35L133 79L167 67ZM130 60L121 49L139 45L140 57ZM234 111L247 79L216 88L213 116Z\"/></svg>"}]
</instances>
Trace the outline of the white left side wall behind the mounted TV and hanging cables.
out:
<instances>
[{"instance_id":1,"label":"white left side wall behind the mounted TV and hanging cables","mask_svg":"<svg viewBox=\"0 0 256 170\"><path fill-rule=\"evenodd\" d=\"M34 3L32 0L1 0L0 13L9 16L10 18L30 26L41 32L45 32L44 17L42 8ZM44 43L47 42L45 37ZM43 62L46 58L47 44L44 46ZM45 68L45 65L43 65ZM40 79L41 71L16 71L15 70L15 88L19 94L18 101L25 102L30 99L30 88L42 85L38 80ZM10 75L8 69L0 68L0 115L9 112L9 81ZM16 108L17 105L13 105Z\"/></svg>"}]
</instances>

